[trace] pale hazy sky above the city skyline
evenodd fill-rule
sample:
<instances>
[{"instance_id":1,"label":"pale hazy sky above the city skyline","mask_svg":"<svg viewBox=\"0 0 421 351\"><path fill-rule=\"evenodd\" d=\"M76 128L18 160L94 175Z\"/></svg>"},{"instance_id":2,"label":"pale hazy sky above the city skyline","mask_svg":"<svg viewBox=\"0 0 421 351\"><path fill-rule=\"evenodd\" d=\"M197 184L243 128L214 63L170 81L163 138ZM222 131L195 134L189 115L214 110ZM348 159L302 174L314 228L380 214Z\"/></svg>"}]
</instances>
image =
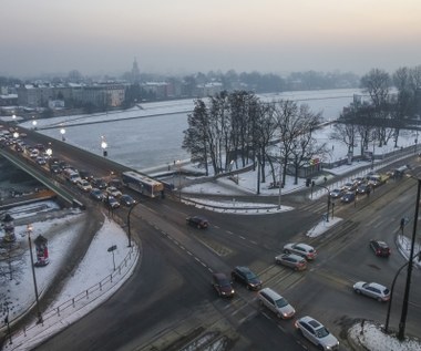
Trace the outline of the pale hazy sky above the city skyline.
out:
<instances>
[{"instance_id":1,"label":"pale hazy sky above the city skyline","mask_svg":"<svg viewBox=\"0 0 421 351\"><path fill-rule=\"evenodd\" d=\"M0 74L392 73L421 64L421 0L0 0Z\"/></svg>"}]
</instances>

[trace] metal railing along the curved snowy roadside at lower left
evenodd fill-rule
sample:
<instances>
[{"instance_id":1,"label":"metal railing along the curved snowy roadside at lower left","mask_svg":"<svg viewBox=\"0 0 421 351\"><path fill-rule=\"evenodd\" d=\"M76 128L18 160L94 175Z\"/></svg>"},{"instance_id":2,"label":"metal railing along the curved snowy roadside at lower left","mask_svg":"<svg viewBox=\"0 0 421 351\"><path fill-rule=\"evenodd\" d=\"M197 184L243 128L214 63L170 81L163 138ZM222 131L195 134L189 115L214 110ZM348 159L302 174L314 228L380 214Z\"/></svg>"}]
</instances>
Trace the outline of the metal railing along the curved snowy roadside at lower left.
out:
<instances>
[{"instance_id":1,"label":"metal railing along the curved snowy roadside at lower left","mask_svg":"<svg viewBox=\"0 0 421 351\"><path fill-rule=\"evenodd\" d=\"M89 287L86 290L80 292L68 301L52 308L42 313L42 323L33 324L29 328L23 327L22 330L12 334L12 343L4 343L3 350L21 350L21 345L25 342L32 341L37 343L41 341L40 335L43 338L55 333L59 329L65 328L72 322L65 322L64 319L74 317L73 320L80 318L81 313L76 313L89 304L89 311L101 303L101 298L109 293L114 287L116 287L125 276L130 275L134 268L134 264L140 256L140 249L137 246L132 246L129 254L123 261L115 268L115 270L95 283ZM95 304L92 304L95 302ZM59 318L59 319L58 319ZM38 341L37 341L38 340Z\"/></svg>"}]
</instances>

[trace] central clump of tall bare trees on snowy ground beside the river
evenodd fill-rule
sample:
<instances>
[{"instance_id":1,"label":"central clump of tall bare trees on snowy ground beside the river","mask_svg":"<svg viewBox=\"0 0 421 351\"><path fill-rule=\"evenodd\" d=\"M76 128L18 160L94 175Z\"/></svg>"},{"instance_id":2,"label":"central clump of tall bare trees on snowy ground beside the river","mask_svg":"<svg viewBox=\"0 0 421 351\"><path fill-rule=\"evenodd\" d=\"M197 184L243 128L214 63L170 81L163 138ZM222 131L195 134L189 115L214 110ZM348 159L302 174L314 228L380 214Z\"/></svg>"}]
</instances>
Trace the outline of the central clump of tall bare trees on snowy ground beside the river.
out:
<instances>
[{"instance_id":1,"label":"central clump of tall bare trees on snowy ground beside the river","mask_svg":"<svg viewBox=\"0 0 421 351\"><path fill-rule=\"evenodd\" d=\"M183 148L206 175L209 166L218 175L230 171L233 163L245 167L251 162L259 169L261 183L266 182L265 166L269 165L274 184L280 173L285 184L291 165L297 183L299 168L327 153L326 145L314 137L320 122L321 114L312 113L305 104L288 100L267 103L250 92L224 91L206 101L195 100ZM276 165L280 172L276 172Z\"/></svg>"}]
</instances>

